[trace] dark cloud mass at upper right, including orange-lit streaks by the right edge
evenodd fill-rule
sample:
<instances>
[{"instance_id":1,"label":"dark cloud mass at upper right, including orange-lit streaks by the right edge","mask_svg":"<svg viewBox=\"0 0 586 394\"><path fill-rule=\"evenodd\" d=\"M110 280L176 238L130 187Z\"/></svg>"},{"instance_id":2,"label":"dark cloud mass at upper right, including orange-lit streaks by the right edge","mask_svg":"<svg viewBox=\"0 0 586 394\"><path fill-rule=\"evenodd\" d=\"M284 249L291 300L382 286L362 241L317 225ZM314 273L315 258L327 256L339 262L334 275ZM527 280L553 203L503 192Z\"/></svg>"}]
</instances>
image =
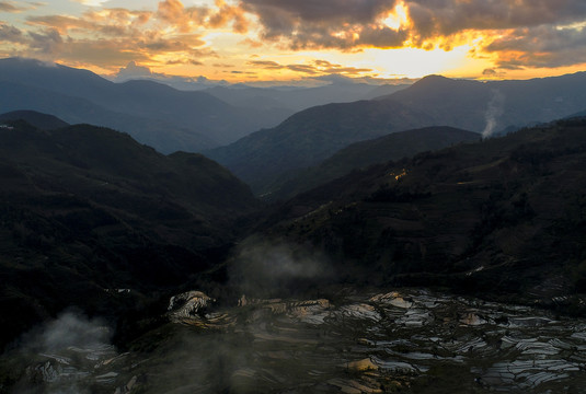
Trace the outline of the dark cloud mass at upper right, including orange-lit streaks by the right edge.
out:
<instances>
[{"instance_id":1,"label":"dark cloud mass at upper right, including orange-lit streaks by the right edge","mask_svg":"<svg viewBox=\"0 0 586 394\"><path fill-rule=\"evenodd\" d=\"M392 28L384 20L398 4L406 21ZM241 7L258 16L261 38L295 50L449 50L480 37L486 51L504 51L496 65L504 68L566 66L585 57L584 31L567 27L586 21L584 0L241 0Z\"/></svg>"}]
</instances>

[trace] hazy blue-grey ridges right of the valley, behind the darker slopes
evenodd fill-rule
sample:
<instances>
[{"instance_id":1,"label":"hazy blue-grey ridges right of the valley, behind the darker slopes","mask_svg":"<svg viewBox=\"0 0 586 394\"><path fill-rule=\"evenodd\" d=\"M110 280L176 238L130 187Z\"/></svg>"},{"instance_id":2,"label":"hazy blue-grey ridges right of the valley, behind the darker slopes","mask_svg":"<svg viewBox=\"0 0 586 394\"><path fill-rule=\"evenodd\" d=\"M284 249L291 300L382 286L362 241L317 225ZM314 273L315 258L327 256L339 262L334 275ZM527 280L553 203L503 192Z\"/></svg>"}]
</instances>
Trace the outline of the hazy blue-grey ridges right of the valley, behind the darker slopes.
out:
<instances>
[{"instance_id":1,"label":"hazy blue-grey ridges right of the valley, behind the darker slopes","mask_svg":"<svg viewBox=\"0 0 586 394\"><path fill-rule=\"evenodd\" d=\"M586 73L528 81L478 82L439 76L376 100L330 104L277 127L205 151L258 194L274 193L295 172L346 146L390 132L450 126L485 136L563 118L584 109Z\"/></svg>"}]
</instances>

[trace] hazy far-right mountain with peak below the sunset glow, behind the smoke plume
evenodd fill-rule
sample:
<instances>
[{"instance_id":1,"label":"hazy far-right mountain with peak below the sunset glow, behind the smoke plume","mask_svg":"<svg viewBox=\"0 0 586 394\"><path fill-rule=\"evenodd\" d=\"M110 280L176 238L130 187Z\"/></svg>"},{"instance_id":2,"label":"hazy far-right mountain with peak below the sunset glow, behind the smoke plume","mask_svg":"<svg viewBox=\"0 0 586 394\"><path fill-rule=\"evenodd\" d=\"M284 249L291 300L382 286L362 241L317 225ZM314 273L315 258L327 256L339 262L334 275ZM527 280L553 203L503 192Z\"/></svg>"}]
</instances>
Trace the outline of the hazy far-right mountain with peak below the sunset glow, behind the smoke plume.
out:
<instances>
[{"instance_id":1,"label":"hazy far-right mountain with peak below the sunset glow, behind the smoke plume","mask_svg":"<svg viewBox=\"0 0 586 394\"><path fill-rule=\"evenodd\" d=\"M578 112L586 100L585 88L586 72L489 82L429 76L379 100L416 107L438 119L440 125L492 134L509 126L551 121Z\"/></svg>"}]
</instances>

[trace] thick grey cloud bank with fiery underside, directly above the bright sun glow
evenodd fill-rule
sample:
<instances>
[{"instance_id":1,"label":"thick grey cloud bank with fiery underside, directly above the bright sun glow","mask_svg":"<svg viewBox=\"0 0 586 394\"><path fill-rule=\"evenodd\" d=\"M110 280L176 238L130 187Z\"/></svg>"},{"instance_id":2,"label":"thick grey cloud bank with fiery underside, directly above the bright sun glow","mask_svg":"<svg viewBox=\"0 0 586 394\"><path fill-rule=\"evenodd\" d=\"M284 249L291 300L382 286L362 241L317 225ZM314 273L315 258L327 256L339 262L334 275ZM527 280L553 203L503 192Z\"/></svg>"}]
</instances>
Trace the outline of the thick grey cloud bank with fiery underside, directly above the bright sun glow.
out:
<instances>
[{"instance_id":1,"label":"thick grey cloud bank with fiery underside, directly above the bright sun glow","mask_svg":"<svg viewBox=\"0 0 586 394\"><path fill-rule=\"evenodd\" d=\"M583 21L582 0L242 0L257 15L264 39L292 49L361 47L430 48L432 40L469 38L470 31L507 30ZM392 28L389 15L402 7L409 21ZM462 36L463 35L463 36Z\"/></svg>"}]
</instances>

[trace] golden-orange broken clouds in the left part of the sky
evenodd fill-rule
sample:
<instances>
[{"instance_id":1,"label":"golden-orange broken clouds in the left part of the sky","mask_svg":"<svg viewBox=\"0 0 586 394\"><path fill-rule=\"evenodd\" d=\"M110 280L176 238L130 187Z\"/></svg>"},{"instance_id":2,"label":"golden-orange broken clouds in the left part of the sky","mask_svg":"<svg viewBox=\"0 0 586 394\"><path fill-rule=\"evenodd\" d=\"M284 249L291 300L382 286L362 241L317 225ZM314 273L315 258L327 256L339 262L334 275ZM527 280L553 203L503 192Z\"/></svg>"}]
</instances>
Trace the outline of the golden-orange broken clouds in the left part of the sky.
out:
<instances>
[{"instance_id":1,"label":"golden-orange broken clouds in the left part of the sky","mask_svg":"<svg viewBox=\"0 0 586 394\"><path fill-rule=\"evenodd\" d=\"M161 65L200 65L200 58L217 55L185 19L196 11L168 0L159 3L158 12L114 8L92 9L79 16L28 16L32 28L24 38L5 24L0 25L0 37L23 44L22 56L106 69L133 60L152 62L158 56L164 59Z\"/></svg>"}]
</instances>

